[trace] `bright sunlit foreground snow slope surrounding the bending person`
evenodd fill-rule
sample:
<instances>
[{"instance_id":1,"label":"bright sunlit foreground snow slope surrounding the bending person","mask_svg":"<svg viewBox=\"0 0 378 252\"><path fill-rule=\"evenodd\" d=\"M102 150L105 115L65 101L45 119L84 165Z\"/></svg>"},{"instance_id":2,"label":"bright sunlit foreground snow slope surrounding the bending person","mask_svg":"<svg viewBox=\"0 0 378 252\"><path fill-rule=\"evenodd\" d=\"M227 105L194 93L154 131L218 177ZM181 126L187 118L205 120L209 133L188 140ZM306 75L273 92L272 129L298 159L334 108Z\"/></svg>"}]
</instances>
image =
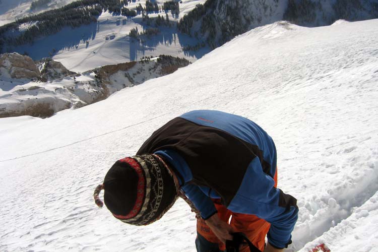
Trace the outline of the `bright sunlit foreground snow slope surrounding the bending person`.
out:
<instances>
[{"instance_id":1,"label":"bright sunlit foreground snow slope surrounding the bending person","mask_svg":"<svg viewBox=\"0 0 378 252\"><path fill-rule=\"evenodd\" d=\"M320 242L378 251L376 27L278 22L104 101L47 119L0 119L0 250L195 251L196 220L183 201L137 227L98 209L92 194L168 120L216 109L256 121L275 140L278 186L299 207L288 251Z\"/></svg>"}]
</instances>

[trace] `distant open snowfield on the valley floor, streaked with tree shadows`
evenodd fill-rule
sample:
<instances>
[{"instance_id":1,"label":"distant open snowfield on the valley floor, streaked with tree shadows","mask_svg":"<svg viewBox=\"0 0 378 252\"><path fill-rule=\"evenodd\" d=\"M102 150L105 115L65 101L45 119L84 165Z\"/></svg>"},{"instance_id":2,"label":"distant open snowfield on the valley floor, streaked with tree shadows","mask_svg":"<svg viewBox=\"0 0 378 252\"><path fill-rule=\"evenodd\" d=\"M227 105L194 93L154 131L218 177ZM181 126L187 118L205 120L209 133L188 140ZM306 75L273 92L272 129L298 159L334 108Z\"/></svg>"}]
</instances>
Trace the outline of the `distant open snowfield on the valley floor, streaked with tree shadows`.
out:
<instances>
[{"instance_id":1,"label":"distant open snowfield on the valley floor, streaked with tree shadows","mask_svg":"<svg viewBox=\"0 0 378 252\"><path fill-rule=\"evenodd\" d=\"M139 4L144 7L145 2L132 2L127 8L134 10ZM156 1L158 5L163 5L164 2L166 1ZM137 27L139 31L149 28L142 22L142 14L127 18L103 12L98 18L98 23L83 25L75 29L65 28L54 35L40 38L33 44L9 47L6 51L15 51L20 54L26 52L34 60L53 55L54 60L61 62L67 69L74 72L84 72L104 65L135 61L143 56L161 54L185 57L194 61L209 52L210 48L206 46L198 51L183 51L184 46L196 45L199 39L177 32L173 21L178 21L182 15L194 9L196 4L204 2L205 0L183 1L179 4L179 15L168 12L172 26L159 27L161 32L156 36L146 38L146 43L129 37L129 32L133 28ZM149 17L154 18L158 15L166 17L164 11L150 13Z\"/></svg>"}]
</instances>

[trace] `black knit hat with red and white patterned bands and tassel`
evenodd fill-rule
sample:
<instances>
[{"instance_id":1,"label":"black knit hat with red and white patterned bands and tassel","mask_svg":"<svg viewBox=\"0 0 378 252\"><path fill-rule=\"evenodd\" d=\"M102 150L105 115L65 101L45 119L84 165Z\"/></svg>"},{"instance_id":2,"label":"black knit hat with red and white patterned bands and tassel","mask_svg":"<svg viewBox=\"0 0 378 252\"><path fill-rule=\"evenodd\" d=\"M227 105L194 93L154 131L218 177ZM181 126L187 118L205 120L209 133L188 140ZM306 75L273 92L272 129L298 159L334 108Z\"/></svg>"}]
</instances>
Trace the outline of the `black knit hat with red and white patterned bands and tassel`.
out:
<instances>
[{"instance_id":1,"label":"black knit hat with red and white patterned bands and tassel","mask_svg":"<svg viewBox=\"0 0 378 252\"><path fill-rule=\"evenodd\" d=\"M113 216L132 225L148 225L160 219L177 199L172 174L157 155L144 154L120 159L99 185L104 202ZM98 186L98 187L99 187Z\"/></svg>"}]
</instances>

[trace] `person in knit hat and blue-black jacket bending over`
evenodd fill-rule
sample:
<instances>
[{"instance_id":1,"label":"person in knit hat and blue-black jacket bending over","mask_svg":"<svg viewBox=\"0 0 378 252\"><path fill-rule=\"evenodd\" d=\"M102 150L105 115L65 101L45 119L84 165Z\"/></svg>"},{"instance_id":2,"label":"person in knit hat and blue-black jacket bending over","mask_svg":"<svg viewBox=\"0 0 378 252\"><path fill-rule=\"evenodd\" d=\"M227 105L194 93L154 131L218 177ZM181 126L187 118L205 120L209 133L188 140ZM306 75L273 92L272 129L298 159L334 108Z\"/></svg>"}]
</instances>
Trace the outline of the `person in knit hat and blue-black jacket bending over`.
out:
<instances>
[{"instance_id":1,"label":"person in knit hat and blue-black jacket bending over","mask_svg":"<svg viewBox=\"0 0 378 252\"><path fill-rule=\"evenodd\" d=\"M273 252L291 243L298 218L296 199L276 186L276 148L259 125L234 114L196 110L155 131L136 156L116 161L95 199L102 206L103 189L115 218L148 225L184 194L199 210L198 252L224 251L233 232Z\"/></svg>"}]
</instances>

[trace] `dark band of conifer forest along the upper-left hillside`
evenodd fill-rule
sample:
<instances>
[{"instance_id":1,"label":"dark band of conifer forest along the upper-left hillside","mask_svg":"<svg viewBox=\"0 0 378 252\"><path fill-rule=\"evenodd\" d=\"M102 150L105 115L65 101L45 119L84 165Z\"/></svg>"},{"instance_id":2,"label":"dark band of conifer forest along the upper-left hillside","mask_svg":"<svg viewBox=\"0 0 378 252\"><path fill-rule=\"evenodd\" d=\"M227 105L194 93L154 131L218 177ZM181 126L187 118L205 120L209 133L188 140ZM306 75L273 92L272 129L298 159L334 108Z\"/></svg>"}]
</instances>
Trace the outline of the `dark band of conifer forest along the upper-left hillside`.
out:
<instances>
[{"instance_id":1,"label":"dark band of conifer forest along the upper-left hillside","mask_svg":"<svg viewBox=\"0 0 378 252\"><path fill-rule=\"evenodd\" d=\"M32 2L31 8L38 8L49 2L51 0L36 0ZM176 1L165 2L163 6L158 6L156 2L147 0L145 8L139 4L137 10L129 10L125 6L128 6L131 2L132 0L79 0L55 10L17 19L13 23L0 27L0 52L3 51L7 44L17 46L32 43L35 39L55 34L64 27L76 28L97 22L98 16L103 11L128 17L137 16L137 12L148 13L162 10L171 10L175 14L179 13ZM165 19L159 16L150 20L147 14L143 15L143 17L144 21L150 24L153 23L156 26L170 24L168 15ZM35 24L19 33L19 26L29 22L35 22Z\"/></svg>"}]
</instances>

